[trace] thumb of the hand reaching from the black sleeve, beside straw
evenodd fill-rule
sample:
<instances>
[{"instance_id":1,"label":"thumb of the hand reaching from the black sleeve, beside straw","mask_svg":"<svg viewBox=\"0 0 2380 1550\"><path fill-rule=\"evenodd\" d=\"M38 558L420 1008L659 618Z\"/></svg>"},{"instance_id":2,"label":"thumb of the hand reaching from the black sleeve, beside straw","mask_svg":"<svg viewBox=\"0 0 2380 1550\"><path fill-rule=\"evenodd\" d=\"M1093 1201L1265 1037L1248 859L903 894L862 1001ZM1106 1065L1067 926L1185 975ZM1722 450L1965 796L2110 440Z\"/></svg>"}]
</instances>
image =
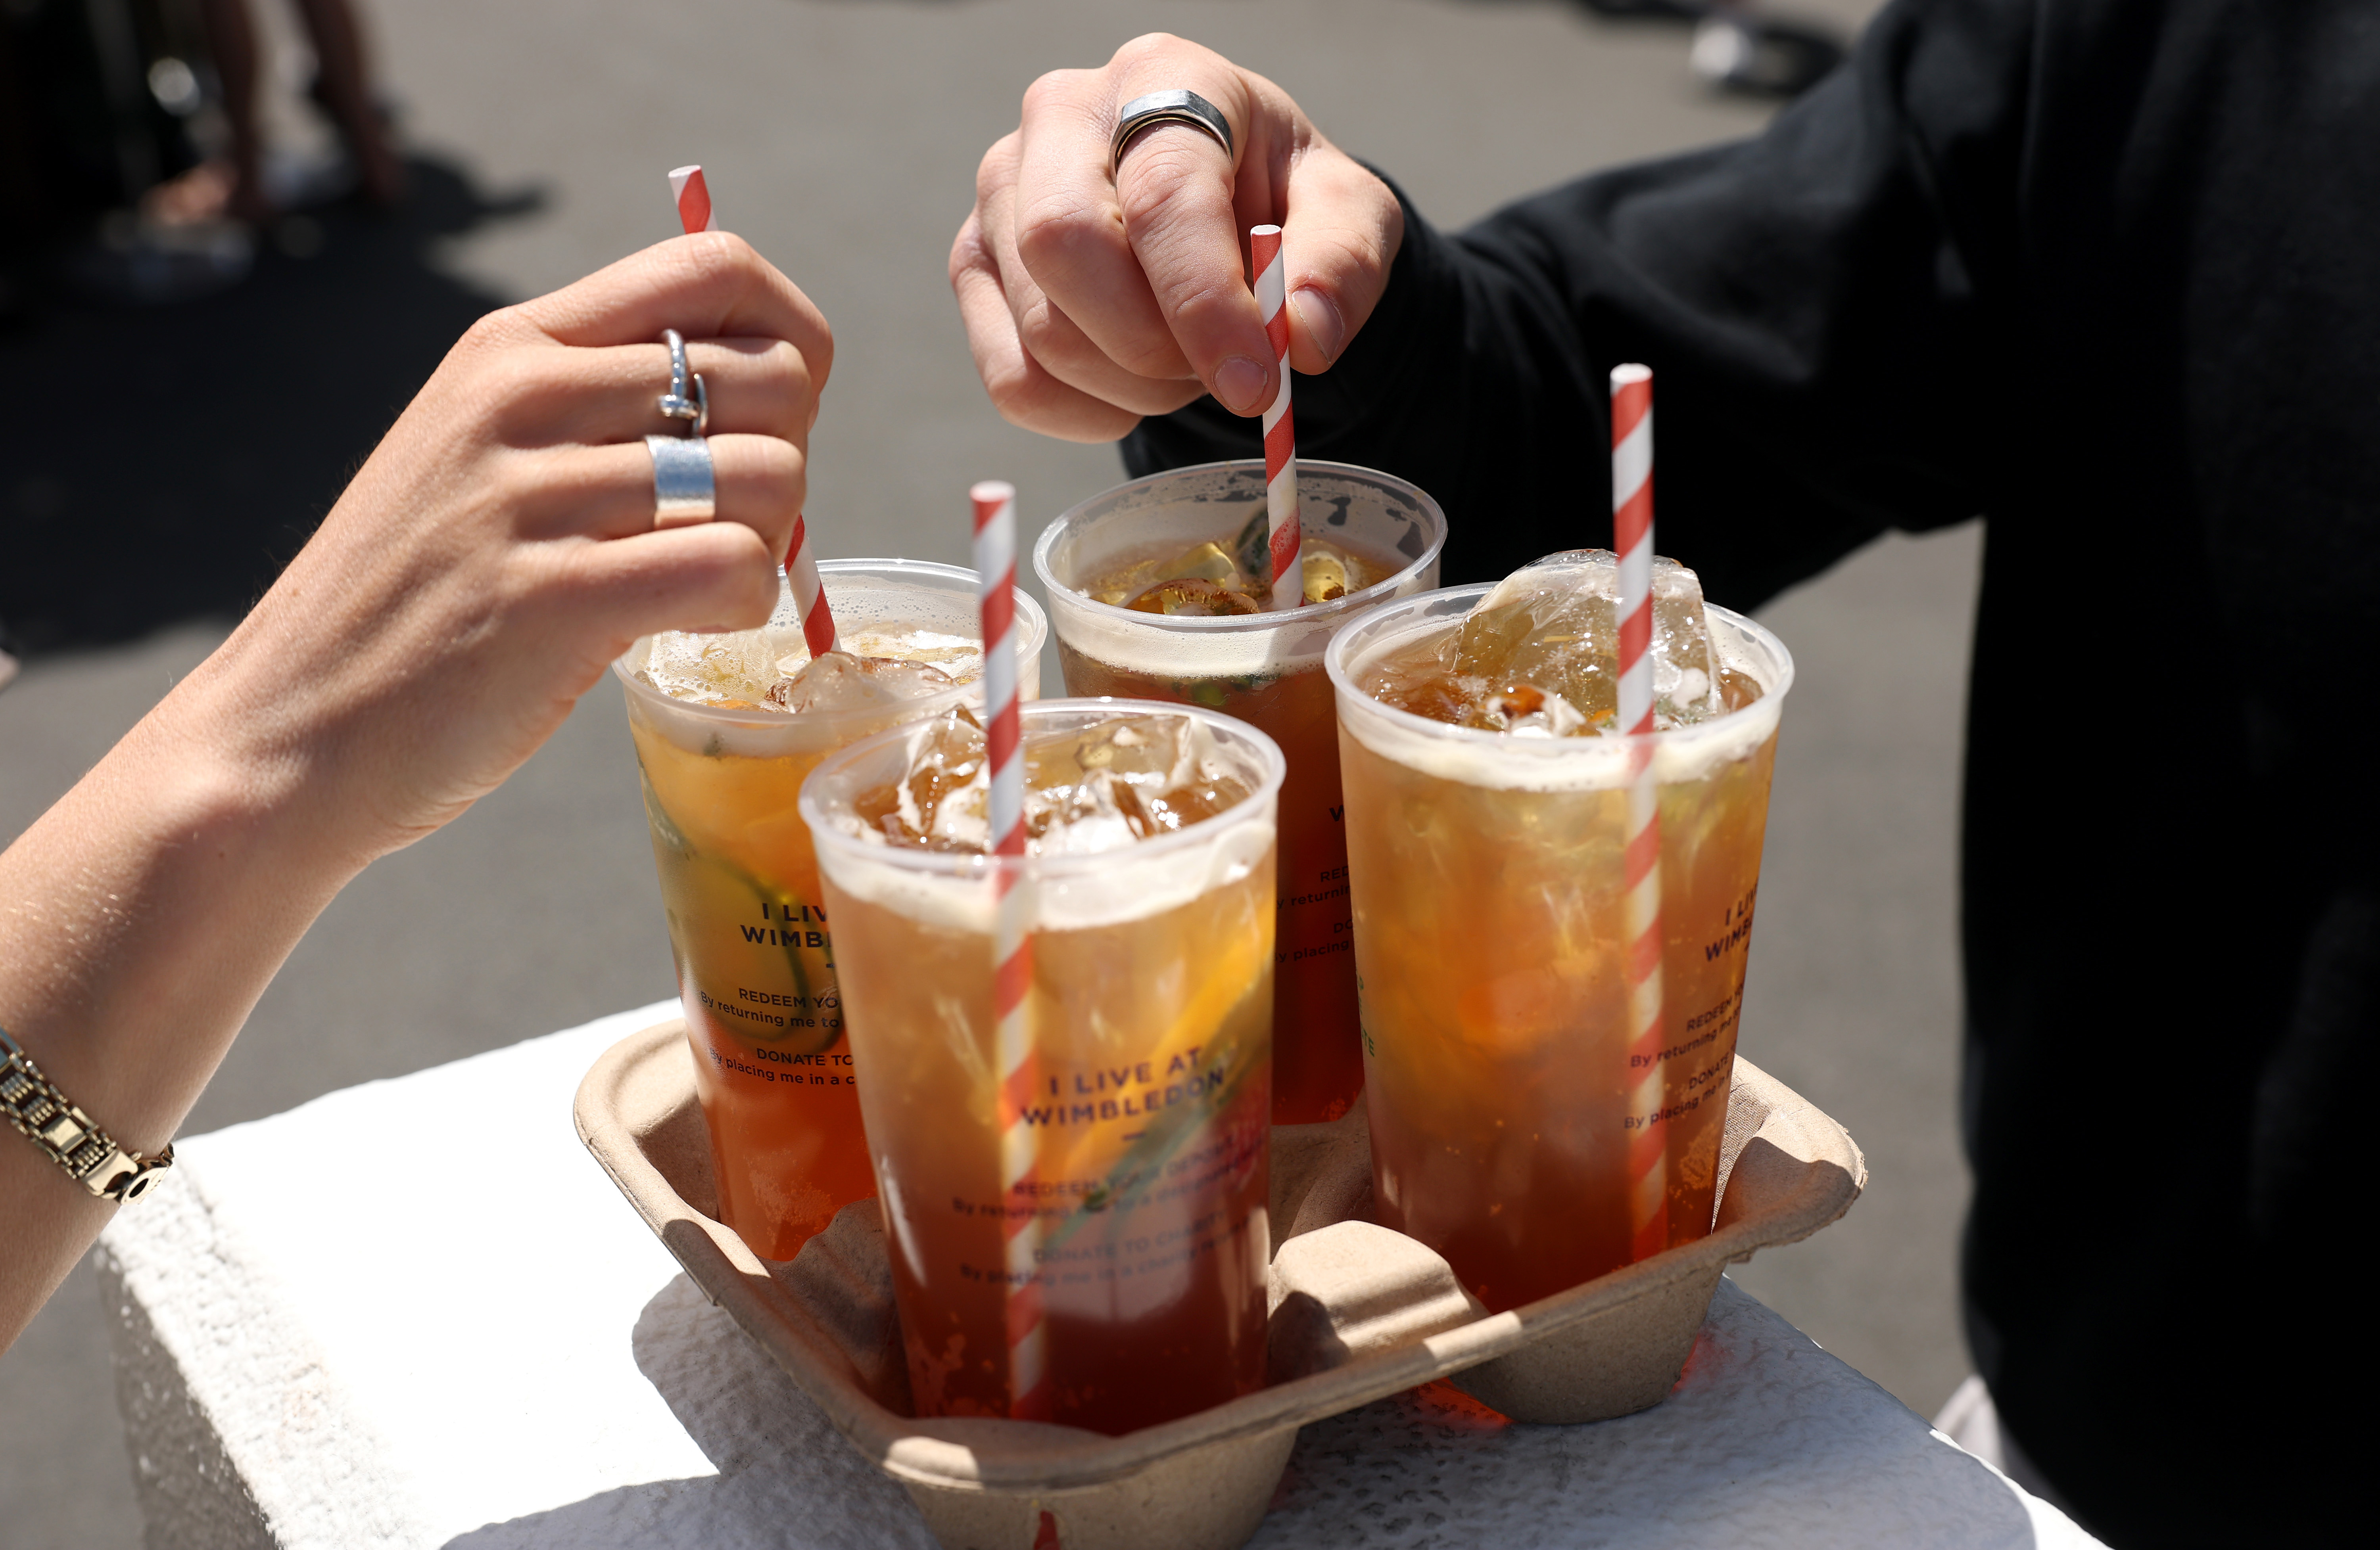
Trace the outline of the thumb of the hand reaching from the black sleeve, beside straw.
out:
<instances>
[{"instance_id":1,"label":"thumb of the hand reaching from the black sleeve, beside straw","mask_svg":"<svg viewBox=\"0 0 2380 1550\"><path fill-rule=\"evenodd\" d=\"M1290 366L1330 371L1388 290L1404 209L1388 183L1335 145L1314 145L1290 174L1280 264L1290 302Z\"/></svg>"}]
</instances>

